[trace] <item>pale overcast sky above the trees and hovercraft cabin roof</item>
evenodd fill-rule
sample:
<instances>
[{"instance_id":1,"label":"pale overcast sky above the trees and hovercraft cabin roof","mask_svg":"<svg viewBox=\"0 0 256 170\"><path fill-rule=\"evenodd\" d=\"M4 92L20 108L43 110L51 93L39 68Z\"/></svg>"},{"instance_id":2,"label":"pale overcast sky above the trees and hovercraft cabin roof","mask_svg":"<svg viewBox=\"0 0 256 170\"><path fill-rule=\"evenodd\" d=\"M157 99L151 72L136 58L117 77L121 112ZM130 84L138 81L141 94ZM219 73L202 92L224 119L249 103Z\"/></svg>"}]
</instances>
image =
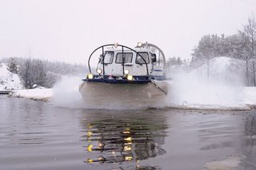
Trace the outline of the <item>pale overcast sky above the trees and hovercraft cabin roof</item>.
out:
<instances>
[{"instance_id":1,"label":"pale overcast sky above the trees and hovercraft cabin roof","mask_svg":"<svg viewBox=\"0 0 256 170\"><path fill-rule=\"evenodd\" d=\"M0 0L0 58L86 63L99 45L158 45L190 58L205 34L236 34L256 0Z\"/></svg>"}]
</instances>

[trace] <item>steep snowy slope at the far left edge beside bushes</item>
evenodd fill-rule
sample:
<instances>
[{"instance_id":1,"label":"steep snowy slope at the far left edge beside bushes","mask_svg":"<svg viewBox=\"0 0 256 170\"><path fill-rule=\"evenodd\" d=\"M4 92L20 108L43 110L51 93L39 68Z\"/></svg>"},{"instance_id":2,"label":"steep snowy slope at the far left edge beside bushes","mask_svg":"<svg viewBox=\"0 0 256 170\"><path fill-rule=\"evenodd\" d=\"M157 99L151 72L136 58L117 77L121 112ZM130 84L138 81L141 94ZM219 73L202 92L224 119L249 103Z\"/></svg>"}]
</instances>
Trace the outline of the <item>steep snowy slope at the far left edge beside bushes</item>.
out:
<instances>
[{"instance_id":1,"label":"steep snowy slope at the far left edge beside bushes","mask_svg":"<svg viewBox=\"0 0 256 170\"><path fill-rule=\"evenodd\" d=\"M18 74L11 73L5 63L0 64L0 91L10 89L24 89Z\"/></svg>"}]
</instances>

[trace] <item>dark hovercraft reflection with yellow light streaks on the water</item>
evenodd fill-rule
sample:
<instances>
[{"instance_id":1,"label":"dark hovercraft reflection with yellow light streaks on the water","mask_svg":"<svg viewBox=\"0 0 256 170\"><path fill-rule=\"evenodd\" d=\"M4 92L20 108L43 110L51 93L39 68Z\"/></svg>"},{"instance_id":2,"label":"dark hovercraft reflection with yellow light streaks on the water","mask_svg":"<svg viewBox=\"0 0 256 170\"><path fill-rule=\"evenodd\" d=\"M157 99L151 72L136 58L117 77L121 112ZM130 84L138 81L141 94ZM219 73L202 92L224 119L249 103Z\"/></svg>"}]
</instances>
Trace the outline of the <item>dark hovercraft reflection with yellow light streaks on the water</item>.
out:
<instances>
[{"instance_id":1,"label":"dark hovercraft reflection with yellow light streaks on the water","mask_svg":"<svg viewBox=\"0 0 256 170\"><path fill-rule=\"evenodd\" d=\"M149 110L146 113L129 112L117 114L105 111L84 115L81 121L86 133L82 136L84 148L86 152L94 153L87 154L87 164L131 161L138 167L140 160L166 153L162 148L167 129L166 117Z\"/></svg>"}]
</instances>

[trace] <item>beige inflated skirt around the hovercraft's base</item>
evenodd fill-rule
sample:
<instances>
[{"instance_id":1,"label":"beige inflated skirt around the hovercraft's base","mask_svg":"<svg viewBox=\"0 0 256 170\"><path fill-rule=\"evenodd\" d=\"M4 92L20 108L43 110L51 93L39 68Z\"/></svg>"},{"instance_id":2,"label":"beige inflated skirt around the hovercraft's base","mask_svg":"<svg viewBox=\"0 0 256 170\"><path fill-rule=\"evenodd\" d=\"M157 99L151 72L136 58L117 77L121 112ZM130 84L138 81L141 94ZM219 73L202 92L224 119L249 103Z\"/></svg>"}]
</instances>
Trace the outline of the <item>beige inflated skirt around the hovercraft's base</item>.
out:
<instances>
[{"instance_id":1,"label":"beige inflated skirt around the hovercraft's base","mask_svg":"<svg viewBox=\"0 0 256 170\"><path fill-rule=\"evenodd\" d=\"M146 84L110 84L84 81L79 87L87 105L104 109L107 106L152 106L165 99L168 84L152 81Z\"/></svg>"}]
</instances>

